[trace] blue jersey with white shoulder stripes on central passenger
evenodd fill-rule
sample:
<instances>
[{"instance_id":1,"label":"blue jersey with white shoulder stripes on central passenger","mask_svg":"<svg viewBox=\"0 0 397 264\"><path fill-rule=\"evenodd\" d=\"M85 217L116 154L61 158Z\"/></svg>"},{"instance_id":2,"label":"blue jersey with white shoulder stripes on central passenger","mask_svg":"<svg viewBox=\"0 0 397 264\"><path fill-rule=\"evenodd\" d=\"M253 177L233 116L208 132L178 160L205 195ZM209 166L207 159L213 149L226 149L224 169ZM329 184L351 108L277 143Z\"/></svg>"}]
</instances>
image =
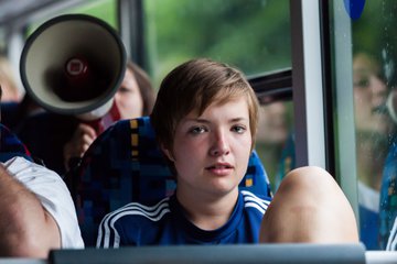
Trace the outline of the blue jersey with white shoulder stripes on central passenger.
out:
<instances>
[{"instance_id":1,"label":"blue jersey with white shoulder stripes on central passenger","mask_svg":"<svg viewBox=\"0 0 397 264\"><path fill-rule=\"evenodd\" d=\"M97 246L257 243L270 199L242 190L229 220L211 231L189 221L175 195L151 207L131 202L103 219Z\"/></svg>"}]
</instances>

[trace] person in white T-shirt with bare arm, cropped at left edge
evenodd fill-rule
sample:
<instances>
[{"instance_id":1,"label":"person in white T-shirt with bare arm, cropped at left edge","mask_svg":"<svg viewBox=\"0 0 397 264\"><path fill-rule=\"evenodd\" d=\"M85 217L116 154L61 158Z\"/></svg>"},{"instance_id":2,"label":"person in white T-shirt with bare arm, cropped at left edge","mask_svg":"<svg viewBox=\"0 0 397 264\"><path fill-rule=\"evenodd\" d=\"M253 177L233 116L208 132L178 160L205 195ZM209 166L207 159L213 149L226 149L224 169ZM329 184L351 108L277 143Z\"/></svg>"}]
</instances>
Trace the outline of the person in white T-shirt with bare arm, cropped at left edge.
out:
<instances>
[{"instance_id":1,"label":"person in white T-shirt with bare arm, cropped at left edge","mask_svg":"<svg viewBox=\"0 0 397 264\"><path fill-rule=\"evenodd\" d=\"M71 194L56 173L15 156L0 162L0 256L84 248Z\"/></svg>"}]
</instances>

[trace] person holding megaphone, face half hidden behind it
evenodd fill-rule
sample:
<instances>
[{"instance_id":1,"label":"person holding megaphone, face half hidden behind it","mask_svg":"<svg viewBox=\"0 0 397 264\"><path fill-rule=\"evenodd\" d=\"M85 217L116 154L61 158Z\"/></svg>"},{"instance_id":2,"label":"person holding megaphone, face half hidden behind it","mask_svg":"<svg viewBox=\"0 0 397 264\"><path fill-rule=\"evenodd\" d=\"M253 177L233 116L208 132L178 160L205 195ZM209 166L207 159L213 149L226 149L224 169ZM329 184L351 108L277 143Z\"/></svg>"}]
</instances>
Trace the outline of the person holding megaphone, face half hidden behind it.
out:
<instances>
[{"instance_id":1,"label":"person holding megaphone, face half hidden behind it","mask_svg":"<svg viewBox=\"0 0 397 264\"><path fill-rule=\"evenodd\" d=\"M154 103L154 90L147 74L129 62L120 88L115 95L120 119L147 116ZM37 130L39 128L39 130ZM37 132L39 131L39 132ZM69 165L88 148L96 131L73 116L39 114L26 119L15 131L32 155L46 167L64 175Z\"/></svg>"}]
</instances>

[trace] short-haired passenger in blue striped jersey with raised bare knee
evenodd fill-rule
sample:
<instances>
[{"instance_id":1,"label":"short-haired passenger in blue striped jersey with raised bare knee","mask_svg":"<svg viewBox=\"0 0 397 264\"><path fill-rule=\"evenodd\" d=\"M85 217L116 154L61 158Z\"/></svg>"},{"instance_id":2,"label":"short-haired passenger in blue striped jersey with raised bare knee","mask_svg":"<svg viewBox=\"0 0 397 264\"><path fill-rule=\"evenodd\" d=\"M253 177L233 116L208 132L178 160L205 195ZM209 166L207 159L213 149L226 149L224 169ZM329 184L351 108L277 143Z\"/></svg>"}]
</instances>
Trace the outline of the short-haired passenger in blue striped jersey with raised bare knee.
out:
<instances>
[{"instance_id":1,"label":"short-haired passenger in blue striped jersey with raised bare knee","mask_svg":"<svg viewBox=\"0 0 397 264\"><path fill-rule=\"evenodd\" d=\"M321 168L290 173L270 207L270 197L239 191L258 122L239 70L210 59L180 65L162 81L151 122L176 190L107 215L97 246L358 241L350 204Z\"/></svg>"}]
</instances>

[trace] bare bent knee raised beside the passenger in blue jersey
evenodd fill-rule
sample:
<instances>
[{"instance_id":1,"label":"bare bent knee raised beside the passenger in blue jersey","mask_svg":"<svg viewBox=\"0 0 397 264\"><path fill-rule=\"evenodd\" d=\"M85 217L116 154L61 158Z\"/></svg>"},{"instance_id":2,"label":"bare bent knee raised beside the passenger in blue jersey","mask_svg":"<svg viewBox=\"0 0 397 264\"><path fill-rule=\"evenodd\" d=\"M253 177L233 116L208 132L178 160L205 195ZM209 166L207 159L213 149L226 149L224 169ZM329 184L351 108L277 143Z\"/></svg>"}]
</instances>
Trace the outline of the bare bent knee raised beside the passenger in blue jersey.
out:
<instances>
[{"instance_id":1,"label":"bare bent knee raised beside the passenger in blue jersey","mask_svg":"<svg viewBox=\"0 0 397 264\"><path fill-rule=\"evenodd\" d=\"M277 190L264 216L260 242L356 243L357 223L332 176L320 167L301 167Z\"/></svg>"}]
</instances>

